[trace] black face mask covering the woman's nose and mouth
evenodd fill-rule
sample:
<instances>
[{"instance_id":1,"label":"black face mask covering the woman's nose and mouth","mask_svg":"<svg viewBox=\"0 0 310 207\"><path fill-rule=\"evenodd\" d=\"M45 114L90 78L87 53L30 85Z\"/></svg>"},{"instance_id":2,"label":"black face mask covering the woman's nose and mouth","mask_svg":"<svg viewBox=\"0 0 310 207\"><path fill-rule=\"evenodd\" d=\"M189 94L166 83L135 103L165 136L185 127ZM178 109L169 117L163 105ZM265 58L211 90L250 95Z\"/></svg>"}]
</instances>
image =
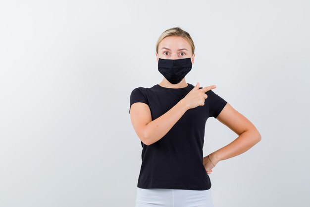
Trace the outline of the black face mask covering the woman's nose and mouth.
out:
<instances>
[{"instance_id":1,"label":"black face mask covering the woman's nose and mouth","mask_svg":"<svg viewBox=\"0 0 310 207\"><path fill-rule=\"evenodd\" d=\"M177 84L191 71L191 58L183 59L158 59L158 71L171 83Z\"/></svg>"}]
</instances>

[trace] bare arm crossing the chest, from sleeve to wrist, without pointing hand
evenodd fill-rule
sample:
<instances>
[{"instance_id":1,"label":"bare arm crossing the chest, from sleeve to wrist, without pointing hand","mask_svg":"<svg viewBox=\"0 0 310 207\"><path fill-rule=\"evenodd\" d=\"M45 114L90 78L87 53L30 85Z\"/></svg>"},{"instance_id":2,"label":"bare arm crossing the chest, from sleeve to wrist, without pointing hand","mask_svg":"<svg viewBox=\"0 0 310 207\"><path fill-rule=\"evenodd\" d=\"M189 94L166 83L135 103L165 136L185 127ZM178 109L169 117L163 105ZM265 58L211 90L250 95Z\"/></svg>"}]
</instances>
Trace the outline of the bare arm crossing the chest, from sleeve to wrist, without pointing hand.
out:
<instances>
[{"instance_id":1,"label":"bare arm crossing the chest, from sleeve to wrist, without pointing hand","mask_svg":"<svg viewBox=\"0 0 310 207\"><path fill-rule=\"evenodd\" d=\"M150 145L165 136L188 109L184 99L181 99L169 111L152 121L149 106L136 102L131 105L130 119L141 141Z\"/></svg>"}]
</instances>

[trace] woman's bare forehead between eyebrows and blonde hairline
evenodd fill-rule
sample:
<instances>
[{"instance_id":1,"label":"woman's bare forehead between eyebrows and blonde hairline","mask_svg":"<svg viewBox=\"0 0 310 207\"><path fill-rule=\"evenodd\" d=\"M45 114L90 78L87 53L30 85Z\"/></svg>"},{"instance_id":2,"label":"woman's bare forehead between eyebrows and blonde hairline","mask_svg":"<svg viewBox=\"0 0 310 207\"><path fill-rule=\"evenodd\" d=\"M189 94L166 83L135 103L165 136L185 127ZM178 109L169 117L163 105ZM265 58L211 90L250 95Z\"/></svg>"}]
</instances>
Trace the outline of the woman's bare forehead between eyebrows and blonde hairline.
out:
<instances>
[{"instance_id":1,"label":"woman's bare forehead between eyebrows and blonde hairline","mask_svg":"<svg viewBox=\"0 0 310 207\"><path fill-rule=\"evenodd\" d=\"M183 37L170 36L170 37L165 37L159 43L159 47L158 47L159 50L162 50L163 47L169 48L170 50L178 50L180 48L186 48L186 49L190 50L191 45Z\"/></svg>"}]
</instances>

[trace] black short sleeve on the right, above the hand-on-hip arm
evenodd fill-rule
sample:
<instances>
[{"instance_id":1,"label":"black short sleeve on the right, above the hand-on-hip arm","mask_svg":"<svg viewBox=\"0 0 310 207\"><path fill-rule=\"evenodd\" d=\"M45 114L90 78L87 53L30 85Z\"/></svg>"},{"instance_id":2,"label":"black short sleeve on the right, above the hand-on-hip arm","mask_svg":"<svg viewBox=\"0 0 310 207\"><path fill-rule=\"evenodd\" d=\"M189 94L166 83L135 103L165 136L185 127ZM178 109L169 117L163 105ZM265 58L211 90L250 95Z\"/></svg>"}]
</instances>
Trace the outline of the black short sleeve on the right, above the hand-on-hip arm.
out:
<instances>
[{"instance_id":1,"label":"black short sleeve on the right, above the hand-on-hip arm","mask_svg":"<svg viewBox=\"0 0 310 207\"><path fill-rule=\"evenodd\" d=\"M208 96L207 100L209 102L209 117L216 118L225 107L227 101L214 93L212 90L207 91L206 94Z\"/></svg>"}]
</instances>

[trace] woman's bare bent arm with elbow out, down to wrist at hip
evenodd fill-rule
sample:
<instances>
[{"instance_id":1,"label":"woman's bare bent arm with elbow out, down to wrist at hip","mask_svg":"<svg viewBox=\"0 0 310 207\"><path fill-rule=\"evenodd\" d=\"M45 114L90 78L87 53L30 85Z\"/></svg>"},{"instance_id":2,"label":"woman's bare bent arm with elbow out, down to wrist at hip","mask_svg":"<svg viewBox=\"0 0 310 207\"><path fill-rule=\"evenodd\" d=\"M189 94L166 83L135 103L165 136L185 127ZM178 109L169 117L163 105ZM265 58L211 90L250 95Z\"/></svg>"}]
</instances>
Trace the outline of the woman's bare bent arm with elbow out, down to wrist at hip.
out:
<instances>
[{"instance_id":1,"label":"woman's bare bent arm with elbow out, down to wrist at hip","mask_svg":"<svg viewBox=\"0 0 310 207\"><path fill-rule=\"evenodd\" d=\"M261 136L256 127L229 103L225 105L216 119L234 131L239 137L226 146L209 154L210 160L215 165L221 160L242 154L261 140ZM206 158L208 157L204 159Z\"/></svg>"}]
</instances>

